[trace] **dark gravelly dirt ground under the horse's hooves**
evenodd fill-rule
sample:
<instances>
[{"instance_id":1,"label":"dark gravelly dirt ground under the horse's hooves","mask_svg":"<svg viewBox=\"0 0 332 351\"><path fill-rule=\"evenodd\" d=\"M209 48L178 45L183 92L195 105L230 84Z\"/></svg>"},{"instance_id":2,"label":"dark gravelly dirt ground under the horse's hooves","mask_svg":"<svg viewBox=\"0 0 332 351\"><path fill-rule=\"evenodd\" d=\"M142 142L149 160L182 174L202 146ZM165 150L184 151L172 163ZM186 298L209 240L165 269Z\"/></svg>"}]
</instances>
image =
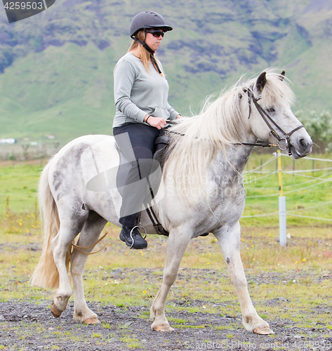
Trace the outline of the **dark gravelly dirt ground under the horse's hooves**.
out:
<instances>
[{"instance_id":1,"label":"dark gravelly dirt ground under the horse's hooves","mask_svg":"<svg viewBox=\"0 0 332 351\"><path fill-rule=\"evenodd\" d=\"M266 303L278 304L281 300L274 298ZM98 314L101 324L86 326L72 319L72 302L58 319L51 315L50 301L2 302L0 350L332 350L332 329L328 329L331 320L309 328L300 328L287 319L268 320L274 336L258 336L244 329L240 316L175 308L202 303L169 300L166 315L172 318L175 330L158 333L150 329L146 306L117 307L90 302L88 305ZM188 323L176 327L180 320Z\"/></svg>"}]
</instances>

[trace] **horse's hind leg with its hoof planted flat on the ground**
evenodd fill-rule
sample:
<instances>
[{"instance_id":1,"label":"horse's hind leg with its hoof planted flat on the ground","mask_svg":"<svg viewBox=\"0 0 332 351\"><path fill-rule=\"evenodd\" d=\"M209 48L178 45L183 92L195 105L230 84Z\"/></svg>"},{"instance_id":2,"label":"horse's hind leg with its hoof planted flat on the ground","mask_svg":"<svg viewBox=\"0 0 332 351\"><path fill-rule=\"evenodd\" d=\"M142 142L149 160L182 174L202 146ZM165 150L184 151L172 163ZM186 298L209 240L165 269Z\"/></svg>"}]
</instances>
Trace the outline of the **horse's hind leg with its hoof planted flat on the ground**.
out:
<instances>
[{"instance_id":1,"label":"horse's hind leg with its hoof planted flat on the ground","mask_svg":"<svg viewBox=\"0 0 332 351\"><path fill-rule=\"evenodd\" d=\"M78 246L88 247L90 249L81 249L84 253L90 253L93 250L93 244L98 241L102 228L105 227L107 220L100 217L98 213L90 211L88 219L84 223L83 230L79 236ZM92 312L86 305L84 298L83 271L86 265L88 255L74 249L71 256L72 264L72 282L74 288L74 319L86 324L100 323L97 314Z\"/></svg>"}]
</instances>

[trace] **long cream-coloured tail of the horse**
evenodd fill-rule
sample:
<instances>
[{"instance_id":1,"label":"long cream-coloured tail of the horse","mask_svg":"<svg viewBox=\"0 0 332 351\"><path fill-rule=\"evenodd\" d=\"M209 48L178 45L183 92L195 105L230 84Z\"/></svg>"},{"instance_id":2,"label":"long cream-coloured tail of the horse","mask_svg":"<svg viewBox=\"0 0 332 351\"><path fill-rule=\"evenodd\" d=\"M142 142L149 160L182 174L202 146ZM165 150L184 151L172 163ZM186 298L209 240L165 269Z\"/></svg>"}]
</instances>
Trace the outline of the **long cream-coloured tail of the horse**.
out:
<instances>
[{"instance_id":1,"label":"long cream-coloured tail of the horse","mask_svg":"<svg viewBox=\"0 0 332 351\"><path fill-rule=\"evenodd\" d=\"M60 229L60 219L58 207L55 204L53 194L48 184L48 172L51 161L41 173L38 187L39 213L41 218L41 230L43 232L43 248L39 263L32 274L30 282L32 286L41 288L57 288L59 286L59 272L53 258L51 241L58 234ZM69 246L66 256L67 272L69 270L69 260L72 247Z\"/></svg>"}]
</instances>

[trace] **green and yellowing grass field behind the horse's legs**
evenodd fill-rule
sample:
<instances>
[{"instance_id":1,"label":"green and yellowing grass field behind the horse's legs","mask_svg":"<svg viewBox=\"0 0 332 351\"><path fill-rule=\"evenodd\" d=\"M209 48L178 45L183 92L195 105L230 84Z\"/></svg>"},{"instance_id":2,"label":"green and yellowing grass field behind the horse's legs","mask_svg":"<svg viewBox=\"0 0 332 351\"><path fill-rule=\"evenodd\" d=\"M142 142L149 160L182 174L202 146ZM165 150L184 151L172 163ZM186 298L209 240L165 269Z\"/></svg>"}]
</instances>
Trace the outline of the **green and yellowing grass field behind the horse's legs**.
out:
<instances>
[{"instance_id":1,"label":"green and yellowing grass field behind the horse's legs","mask_svg":"<svg viewBox=\"0 0 332 351\"><path fill-rule=\"evenodd\" d=\"M244 216L278 211L279 183L274 173L276 160L271 157L272 154L253 155L249 161ZM269 160L270 163L265 164ZM265 164L263 168L253 172L261 164ZM278 216L243 218L241 256L258 312L268 318L278 314L305 326L322 318L331 319L325 310L312 312L314 306L326 306L331 300L332 222L328 219L332 218L332 193L331 170L326 169L331 168L331 162L303 159L293 164L290 158L282 157L282 164L284 171L309 169L296 174L314 177L284 173L287 211L326 220L288 216L290 239L288 246L281 248L277 241ZM51 291L29 286L29 277L40 256L38 247L41 247L35 193L40 171L40 164L0 168L1 301L51 300ZM272 196L265 197L266 194ZM109 244L91 256L86 266L86 299L114 305L150 305L161 284L167 239L151 235L147 250L130 251L119 241L118 227L107 225L105 231L109 233L105 239ZM284 303L286 309L264 304L265 300L280 296L288 299ZM216 310L213 303L224 301L225 306L218 306L218 311L239 316L236 292L228 279L218 243L211 234L190 242L169 301L188 298L204 301L193 306L192 312L204 309L213 313ZM176 325L176 321L173 324Z\"/></svg>"}]
</instances>

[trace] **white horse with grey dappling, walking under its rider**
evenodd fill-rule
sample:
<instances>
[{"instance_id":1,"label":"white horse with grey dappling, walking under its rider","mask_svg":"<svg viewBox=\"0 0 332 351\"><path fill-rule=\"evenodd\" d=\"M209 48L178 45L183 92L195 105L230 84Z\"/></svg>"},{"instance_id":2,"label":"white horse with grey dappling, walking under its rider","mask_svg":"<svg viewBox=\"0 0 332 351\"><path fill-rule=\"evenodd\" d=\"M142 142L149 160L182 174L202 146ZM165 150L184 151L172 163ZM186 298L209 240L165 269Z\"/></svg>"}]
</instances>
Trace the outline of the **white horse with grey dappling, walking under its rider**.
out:
<instances>
[{"instance_id":1,"label":"white horse with grey dappling, walking under its rider","mask_svg":"<svg viewBox=\"0 0 332 351\"><path fill-rule=\"evenodd\" d=\"M284 72L267 69L257 79L230 88L198 116L169 129L168 158L153 203L160 223L169 232L164 278L150 310L155 331L172 330L164 314L168 291L190 239L210 232L218 239L239 294L245 328L273 333L248 294L240 257L239 219L245 203L242 173L257 140L288 147L295 159L312 149L310 135L291 112L294 96L285 80ZM71 244L81 233L77 245L89 253L107 221L119 225L121 196L115 185L102 185L105 189L99 192L87 189L91 179L117 166L114 138L86 135L65 145L41 173L44 244L31 281L44 288L58 287L51 307L55 317L65 310L72 295L70 262L74 319L86 324L99 322L84 298L82 274L88 256ZM140 222L148 233L155 233L145 211Z\"/></svg>"}]
</instances>

